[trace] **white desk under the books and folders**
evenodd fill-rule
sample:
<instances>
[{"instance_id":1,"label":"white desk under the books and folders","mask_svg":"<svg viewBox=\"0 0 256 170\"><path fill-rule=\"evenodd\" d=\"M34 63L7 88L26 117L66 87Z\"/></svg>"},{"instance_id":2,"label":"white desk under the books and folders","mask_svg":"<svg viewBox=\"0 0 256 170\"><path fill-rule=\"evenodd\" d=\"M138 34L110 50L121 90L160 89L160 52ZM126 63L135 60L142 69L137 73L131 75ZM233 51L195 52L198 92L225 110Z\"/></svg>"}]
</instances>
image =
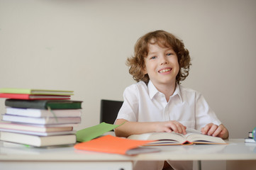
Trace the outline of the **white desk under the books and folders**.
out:
<instances>
[{"instance_id":1,"label":"white desk under the books and folders","mask_svg":"<svg viewBox=\"0 0 256 170\"><path fill-rule=\"evenodd\" d=\"M4 169L132 169L133 161L152 160L253 160L256 144L243 139L229 140L228 145L187 145L157 147L161 152L124 156L87 152L73 147L51 149L0 146L0 167Z\"/></svg>"}]
</instances>

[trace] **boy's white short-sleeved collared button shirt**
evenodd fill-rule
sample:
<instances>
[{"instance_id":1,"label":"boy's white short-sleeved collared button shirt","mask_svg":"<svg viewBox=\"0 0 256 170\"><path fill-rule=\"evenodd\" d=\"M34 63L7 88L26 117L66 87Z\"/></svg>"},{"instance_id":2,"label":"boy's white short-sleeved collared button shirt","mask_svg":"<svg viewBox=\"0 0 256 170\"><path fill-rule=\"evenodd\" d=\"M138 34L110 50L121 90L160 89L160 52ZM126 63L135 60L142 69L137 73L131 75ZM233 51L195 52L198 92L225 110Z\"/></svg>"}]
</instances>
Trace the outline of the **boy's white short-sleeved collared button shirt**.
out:
<instances>
[{"instance_id":1,"label":"boy's white short-sleeved collared button shirt","mask_svg":"<svg viewBox=\"0 0 256 170\"><path fill-rule=\"evenodd\" d=\"M152 81L148 86L143 81L128 86L123 92L123 100L117 119L132 122L177 120L196 130L201 130L208 123L221 125L204 96L179 84L168 103Z\"/></svg>"}]
</instances>

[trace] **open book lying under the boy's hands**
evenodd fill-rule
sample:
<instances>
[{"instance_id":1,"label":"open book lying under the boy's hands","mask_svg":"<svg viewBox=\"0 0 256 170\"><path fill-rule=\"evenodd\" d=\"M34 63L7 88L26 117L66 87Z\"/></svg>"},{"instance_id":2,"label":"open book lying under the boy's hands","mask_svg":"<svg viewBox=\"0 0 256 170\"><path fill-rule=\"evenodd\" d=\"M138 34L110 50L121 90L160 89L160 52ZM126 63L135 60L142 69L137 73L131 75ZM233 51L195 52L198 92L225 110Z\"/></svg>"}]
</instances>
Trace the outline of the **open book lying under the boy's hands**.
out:
<instances>
[{"instance_id":1,"label":"open book lying under the boy's hands","mask_svg":"<svg viewBox=\"0 0 256 170\"><path fill-rule=\"evenodd\" d=\"M155 140L146 144L153 145L191 145L191 144L226 144L221 137L203 135L198 130L187 128L187 135L176 132L150 132L140 135L130 135L131 140Z\"/></svg>"}]
</instances>

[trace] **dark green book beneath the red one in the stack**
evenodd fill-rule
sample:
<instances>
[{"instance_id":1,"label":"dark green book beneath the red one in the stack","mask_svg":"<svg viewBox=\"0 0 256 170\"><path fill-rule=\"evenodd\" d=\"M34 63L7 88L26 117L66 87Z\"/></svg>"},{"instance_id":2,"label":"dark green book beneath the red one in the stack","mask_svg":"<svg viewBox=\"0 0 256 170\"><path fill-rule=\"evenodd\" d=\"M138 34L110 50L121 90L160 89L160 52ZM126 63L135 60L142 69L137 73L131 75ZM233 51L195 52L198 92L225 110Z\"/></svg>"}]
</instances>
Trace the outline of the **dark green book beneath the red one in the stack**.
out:
<instances>
[{"instance_id":1,"label":"dark green book beneath the red one in the stack","mask_svg":"<svg viewBox=\"0 0 256 170\"><path fill-rule=\"evenodd\" d=\"M13 108L38 108L38 109L79 109L82 108L82 101L70 100L17 100L6 99L5 106Z\"/></svg>"}]
</instances>

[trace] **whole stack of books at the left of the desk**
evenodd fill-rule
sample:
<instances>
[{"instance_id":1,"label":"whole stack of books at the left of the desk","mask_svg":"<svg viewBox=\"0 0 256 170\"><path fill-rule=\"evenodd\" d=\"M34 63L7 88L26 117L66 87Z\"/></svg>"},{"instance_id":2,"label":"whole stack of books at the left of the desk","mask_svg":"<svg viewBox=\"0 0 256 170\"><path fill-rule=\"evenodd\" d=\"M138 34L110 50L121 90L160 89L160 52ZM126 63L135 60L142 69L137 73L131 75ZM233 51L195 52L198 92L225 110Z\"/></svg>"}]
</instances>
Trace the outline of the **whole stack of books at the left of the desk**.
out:
<instances>
[{"instance_id":1,"label":"whole stack of books at the left of the desk","mask_svg":"<svg viewBox=\"0 0 256 170\"><path fill-rule=\"evenodd\" d=\"M33 147L74 145L82 101L70 100L71 95L73 91L0 89L0 98L6 98L0 140Z\"/></svg>"}]
</instances>

